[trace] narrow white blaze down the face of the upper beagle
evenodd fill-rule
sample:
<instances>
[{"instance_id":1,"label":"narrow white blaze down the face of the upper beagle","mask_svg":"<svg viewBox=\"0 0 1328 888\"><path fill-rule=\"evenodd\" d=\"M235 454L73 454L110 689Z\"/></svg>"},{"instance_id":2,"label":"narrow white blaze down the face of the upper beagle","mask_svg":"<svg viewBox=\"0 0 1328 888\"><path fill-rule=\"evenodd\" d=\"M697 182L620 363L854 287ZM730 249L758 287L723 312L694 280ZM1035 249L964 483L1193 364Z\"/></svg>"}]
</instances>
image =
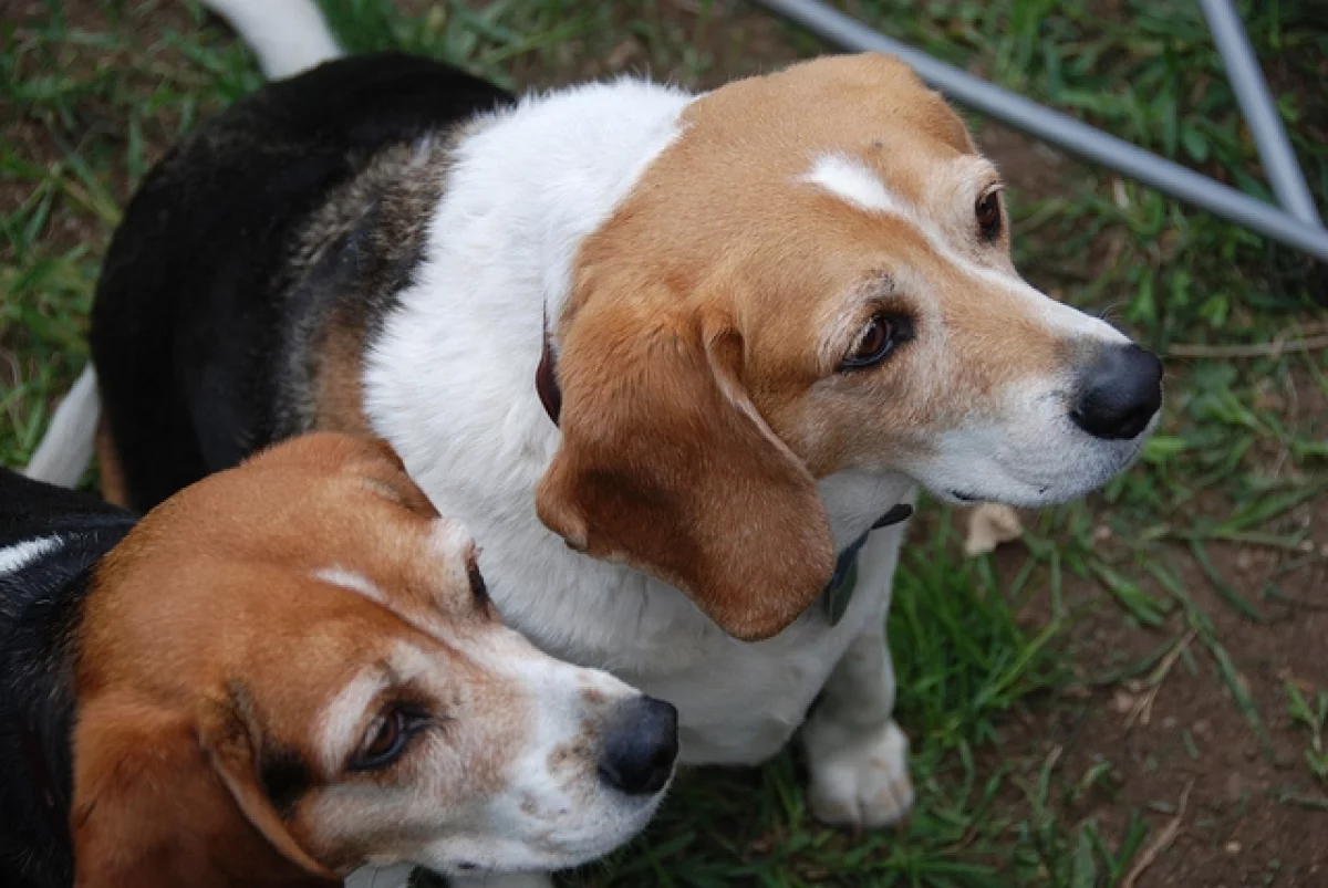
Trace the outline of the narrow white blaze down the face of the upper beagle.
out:
<instances>
[{"instance_id":1,"label":"narrow white blaze down the face of the upper beagle","mask_svg":"<svg viewBox=\"0 0 1328 888\"><path fill-rule=\"evenodd\" d=\"M973 166L972 158L960 158L956 163L961 166L957 170L947 170L947 175L957 173L971 177L980 170ZM822 154L811 165L811 170L798 181L814 185L863 212L887 215L911 226L944 263L976 279L984 287L1013 293L1028 305L1035 317L1064 336L1085 336L1122 344L1129 341L1110 324L1050 299L1019 275L975 261L969 244L956 247L935 219L922 212L907 198L886 187L874 171L855 158L835 153Z\"/></svg>"}]
</instances>

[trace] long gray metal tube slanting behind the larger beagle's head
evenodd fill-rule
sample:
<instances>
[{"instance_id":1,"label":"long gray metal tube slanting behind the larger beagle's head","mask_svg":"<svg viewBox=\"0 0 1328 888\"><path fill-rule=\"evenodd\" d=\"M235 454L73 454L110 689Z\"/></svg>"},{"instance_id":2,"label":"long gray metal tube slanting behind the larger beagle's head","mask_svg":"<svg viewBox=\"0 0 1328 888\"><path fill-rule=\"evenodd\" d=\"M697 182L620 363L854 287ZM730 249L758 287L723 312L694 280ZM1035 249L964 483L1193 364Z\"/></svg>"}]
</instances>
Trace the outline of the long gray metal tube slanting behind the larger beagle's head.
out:
<instances>
[{"instance_id":1,"label":"long gray metal tube slanting behind the larger beagle's head","mask_svg":"<svg viewBox=\"0 0 1328 888\"><path fill-rule=\"evenodd\" d=\"M1035 135L1088 161L1122 173L1163 194L1235 222L1266 238L1328 261L1328 231L1307 224L1276 207L1214 182L1114 135L1053 111L1023 96L993 86L954 65L876 33L817 0L754 0L830 44L857 52L898 56L918 76L956 102Z\"/></svg>"}]
</instances>

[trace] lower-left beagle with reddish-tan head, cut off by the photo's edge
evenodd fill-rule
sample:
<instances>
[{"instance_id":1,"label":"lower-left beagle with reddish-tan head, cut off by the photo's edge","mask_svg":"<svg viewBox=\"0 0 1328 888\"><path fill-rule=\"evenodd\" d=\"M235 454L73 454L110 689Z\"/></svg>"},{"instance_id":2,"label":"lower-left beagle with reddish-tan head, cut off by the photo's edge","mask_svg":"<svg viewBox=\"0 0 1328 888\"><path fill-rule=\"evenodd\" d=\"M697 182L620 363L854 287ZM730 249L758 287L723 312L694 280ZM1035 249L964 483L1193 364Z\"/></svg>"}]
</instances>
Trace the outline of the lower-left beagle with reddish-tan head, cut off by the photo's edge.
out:
<instances>
[{"instance_id":1,"label":"lower-left beagle with reddish-tan head, cut off by the photo's edge","mask_svg":"<svg viewBox=\"0 0 1328 888\"><path fill-rule=\"evenodd\" d=\"M141 522L0 470L0 884L335 885L635 835L676 714L502 625L386 446L299 438Z\"/></svg>"}]
</instances>

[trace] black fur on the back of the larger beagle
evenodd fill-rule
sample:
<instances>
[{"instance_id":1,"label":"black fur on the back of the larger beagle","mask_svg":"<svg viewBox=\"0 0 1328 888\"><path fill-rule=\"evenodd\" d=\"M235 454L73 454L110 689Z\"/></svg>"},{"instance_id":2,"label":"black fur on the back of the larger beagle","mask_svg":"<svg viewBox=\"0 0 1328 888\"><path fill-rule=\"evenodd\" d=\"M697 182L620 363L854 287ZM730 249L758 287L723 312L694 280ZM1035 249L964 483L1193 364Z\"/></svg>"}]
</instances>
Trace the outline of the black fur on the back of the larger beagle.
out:
<instances>
[{"instance_id":1,"label":"black fur on the back of the larger beagle","mask_svg":"<svg viewBox=\"0 0 1328 888\"><path fill-rule=\"evenodd\" d=\"M243 100L149 174L112 240L92 328L135 508L307 427L291 388L311 324L382 311L417 260L376 218L390 216L378 198L340 230L321 219L328 202L385 153L510 101L440 62L357 56ZM320 226L328 240L311 244Z\"/></svg>"}]
</instances>

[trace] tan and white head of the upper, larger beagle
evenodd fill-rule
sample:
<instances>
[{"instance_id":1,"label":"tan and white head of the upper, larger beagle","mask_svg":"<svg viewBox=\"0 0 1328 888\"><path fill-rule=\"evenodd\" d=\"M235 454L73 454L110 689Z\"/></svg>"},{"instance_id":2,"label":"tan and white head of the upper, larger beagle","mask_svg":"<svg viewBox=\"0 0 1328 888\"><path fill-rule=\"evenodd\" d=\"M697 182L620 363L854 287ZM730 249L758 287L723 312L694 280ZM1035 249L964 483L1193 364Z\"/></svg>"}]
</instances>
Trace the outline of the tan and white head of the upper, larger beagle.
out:
<instances>
[{"instance_id":1,"label":"tan and white head of the upper, larger beagle","mask_svg":"<svg viewBox=\"0 0 1328 888\"><path fill-rule=\"evenodd\" d=\"M580 246L554 345L540 518L752 640L831 575L819 482L1058 503L1125 469L1161 405L1154 356L1017 275L996 167L875 54L691 102Z\"/></svg>"}]
</instances>

